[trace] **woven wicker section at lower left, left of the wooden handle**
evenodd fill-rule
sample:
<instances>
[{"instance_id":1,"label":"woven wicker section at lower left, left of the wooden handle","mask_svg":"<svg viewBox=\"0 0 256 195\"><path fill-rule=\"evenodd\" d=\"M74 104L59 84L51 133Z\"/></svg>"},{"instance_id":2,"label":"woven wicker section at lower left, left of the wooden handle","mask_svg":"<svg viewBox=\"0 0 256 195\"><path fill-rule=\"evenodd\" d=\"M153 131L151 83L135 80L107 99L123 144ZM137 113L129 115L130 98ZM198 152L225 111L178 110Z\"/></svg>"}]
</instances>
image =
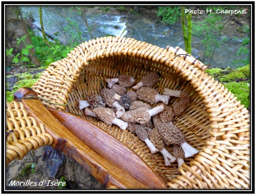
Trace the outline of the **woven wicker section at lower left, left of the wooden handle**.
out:
<instances>
[{"instance_id":1,"label":"woven wicker section at lower left, left of the wooden handle","mask_svg":"<svg viewBox=\"0 0 256 195\"><path fill-rule=\"evenodd\" d=\"M51 145L53 138L45 133L43 124L36 124L20 102L6 103L6 165L23 159L28 151Z\"/></svg>"}]
</instances>

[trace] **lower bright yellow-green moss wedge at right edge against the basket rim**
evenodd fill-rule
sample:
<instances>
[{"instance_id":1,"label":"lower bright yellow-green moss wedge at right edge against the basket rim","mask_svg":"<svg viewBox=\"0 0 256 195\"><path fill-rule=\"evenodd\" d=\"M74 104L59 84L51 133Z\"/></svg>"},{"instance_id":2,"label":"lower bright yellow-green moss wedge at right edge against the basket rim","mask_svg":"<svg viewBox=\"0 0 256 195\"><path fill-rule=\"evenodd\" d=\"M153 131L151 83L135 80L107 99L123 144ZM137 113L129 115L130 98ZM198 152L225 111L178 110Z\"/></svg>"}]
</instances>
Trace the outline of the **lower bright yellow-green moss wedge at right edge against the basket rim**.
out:
<instances>
[{"instance_id":1,"label":"lower bright yellow-green moss wedge at right edge against the basket rim","mask_svg":"<svg viewBox=\"0 0 256 195\"><path fill-rule=\"evenodd\" d=\"M250 99L249 99L249 90L250 87L248 86L247 82L229 82L223 84L225 88L228 89L234 96L237 97L238 101L241 101L245 107L249 107Z\"/></svg>"}]
</instances>

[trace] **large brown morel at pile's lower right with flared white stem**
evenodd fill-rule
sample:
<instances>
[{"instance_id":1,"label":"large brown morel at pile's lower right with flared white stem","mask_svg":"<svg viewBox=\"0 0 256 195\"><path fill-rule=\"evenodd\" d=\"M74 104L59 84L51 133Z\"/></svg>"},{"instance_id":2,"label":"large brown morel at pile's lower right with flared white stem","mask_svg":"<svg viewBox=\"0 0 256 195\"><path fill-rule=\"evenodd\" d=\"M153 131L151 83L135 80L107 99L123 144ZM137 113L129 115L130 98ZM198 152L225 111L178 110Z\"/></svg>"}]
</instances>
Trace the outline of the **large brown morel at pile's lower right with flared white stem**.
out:
<instances>
[{"instance_id":1,"label":"large brown morel at pile's lower right with flared white stem","mask_svg":"<svg viewBox=\"0 0 256 195\"><path fill-rule=\"evenodd\" d=\"M180 128L171 123L159 122L161 119L158 115L153 117L154 124L158 129L159 134L162 136L166 143L180 145L184 151L184 157L188 158L198 153L198 150L189 145L180 131Z\"/></svg>"}]
</instances>

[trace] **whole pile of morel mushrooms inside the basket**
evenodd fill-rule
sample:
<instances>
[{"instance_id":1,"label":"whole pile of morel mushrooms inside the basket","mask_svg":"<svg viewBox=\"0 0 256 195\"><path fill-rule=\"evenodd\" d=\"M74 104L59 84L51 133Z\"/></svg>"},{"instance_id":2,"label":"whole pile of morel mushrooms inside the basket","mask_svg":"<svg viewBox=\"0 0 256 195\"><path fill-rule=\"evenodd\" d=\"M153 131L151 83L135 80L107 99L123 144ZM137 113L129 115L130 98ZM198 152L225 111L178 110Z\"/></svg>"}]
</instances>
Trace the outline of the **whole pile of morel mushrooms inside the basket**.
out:
<instances>
[{"instance_id":1,"label":"whole pile of morel mushrooms inside the basket","mask_svg":"<svg viewBox=\"0 0 256 195\"><path fill-rule=\"evenodd\" d=\"M129 129L146 143L151 153L160 151L166 166L177 160L179 170L184 158L198 153L196 148L186 142L180 128L173 124L174 117L184 113L190 97L184 91L167 88L160 95L152 88L158 80L159 76L155 72L145 75L132 87L134 92L127 91L135 82L131 76L119 75L118 78L106 79L108 88L103 88L100 95L79 100L79 110L84 110L84 115L97 117L108 125L116 124L123 130ZM179 98L172 107L167 105L170 96ZM161 103L152 108L146 102ZM171 144L174 145L174 156L165 149L165 146Z\"/></svg>"}]
</instances>

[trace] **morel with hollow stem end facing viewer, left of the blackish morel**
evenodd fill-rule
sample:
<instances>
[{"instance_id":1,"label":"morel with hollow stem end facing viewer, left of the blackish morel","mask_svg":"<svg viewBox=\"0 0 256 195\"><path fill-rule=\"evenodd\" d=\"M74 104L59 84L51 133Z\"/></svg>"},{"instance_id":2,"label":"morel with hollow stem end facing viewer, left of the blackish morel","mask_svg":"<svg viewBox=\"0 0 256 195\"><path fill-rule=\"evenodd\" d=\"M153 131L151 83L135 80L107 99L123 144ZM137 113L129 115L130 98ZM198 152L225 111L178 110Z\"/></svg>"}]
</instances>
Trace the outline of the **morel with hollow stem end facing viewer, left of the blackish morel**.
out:
<instances>
[{"instance_id":1,"label":"morel with hollow stem end facing viewer, left of the blackish morel","mask_svg":"<svg viewBox=\"0 0 256 195\"><path fill-rule=\"evenodd\" d=\"M100 91L100 95L102 96L103 100L106 104L110 107L116 108L116 117L120 118L123 113L125 112L124 108L118 103L118 101L113 100L113 96L116 95L116 92L112 89L103 88Z\"/></svg>"}]
</instances>

